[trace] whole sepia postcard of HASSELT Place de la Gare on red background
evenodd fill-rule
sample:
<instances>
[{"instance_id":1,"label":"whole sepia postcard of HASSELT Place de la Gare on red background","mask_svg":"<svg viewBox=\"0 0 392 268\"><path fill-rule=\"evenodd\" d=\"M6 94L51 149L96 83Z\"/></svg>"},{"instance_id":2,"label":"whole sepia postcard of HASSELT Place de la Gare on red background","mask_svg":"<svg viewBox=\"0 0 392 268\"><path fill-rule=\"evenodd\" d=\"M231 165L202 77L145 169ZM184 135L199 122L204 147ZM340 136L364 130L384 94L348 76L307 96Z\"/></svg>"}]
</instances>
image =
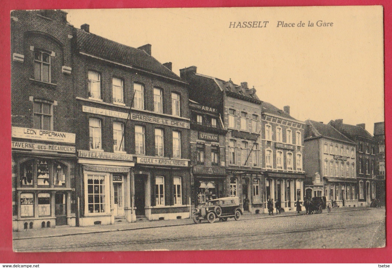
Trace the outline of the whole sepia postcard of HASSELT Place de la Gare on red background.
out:
<instances>
[{"instance_id":1,"label":"whole sepia postcard of HASSELT Place de la Gare on red background","mask_svg":"<svg viewBox=\"0 0 392 268\"><path fill-rule=\"evenodd\" d=\"M11 11L14 251L384 247L383 40L382 6Z\"/></svg>"}]
</instances>

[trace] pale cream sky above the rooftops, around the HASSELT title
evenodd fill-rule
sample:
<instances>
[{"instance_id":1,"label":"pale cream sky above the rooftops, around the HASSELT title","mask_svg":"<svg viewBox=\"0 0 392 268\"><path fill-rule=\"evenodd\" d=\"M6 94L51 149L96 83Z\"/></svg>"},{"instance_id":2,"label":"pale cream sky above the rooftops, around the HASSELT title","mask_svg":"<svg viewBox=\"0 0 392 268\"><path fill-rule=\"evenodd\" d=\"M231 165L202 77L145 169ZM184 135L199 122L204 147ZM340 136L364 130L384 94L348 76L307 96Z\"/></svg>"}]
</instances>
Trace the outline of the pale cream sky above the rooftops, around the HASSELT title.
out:
<instances>
[{"instance_id":1,"label":"pale cream sky above the rooftops, around the HASSELT title","mask_svg":"<svg viewBox=\"0 0 392 268\"><path fill-rule=\"evenodd\" d=\"M248 82L256 94L298 120L347 124L384 121L382 7L236 7L192 9L73 9L68 21L172 62L174 73L197 72ZM308 27L308 21L333 22ZM229 28L230 22L269 21ZM295 27L276 27L278 21ZM302 21L305 27L297 27Z\"/></svg>"}]
</instances>

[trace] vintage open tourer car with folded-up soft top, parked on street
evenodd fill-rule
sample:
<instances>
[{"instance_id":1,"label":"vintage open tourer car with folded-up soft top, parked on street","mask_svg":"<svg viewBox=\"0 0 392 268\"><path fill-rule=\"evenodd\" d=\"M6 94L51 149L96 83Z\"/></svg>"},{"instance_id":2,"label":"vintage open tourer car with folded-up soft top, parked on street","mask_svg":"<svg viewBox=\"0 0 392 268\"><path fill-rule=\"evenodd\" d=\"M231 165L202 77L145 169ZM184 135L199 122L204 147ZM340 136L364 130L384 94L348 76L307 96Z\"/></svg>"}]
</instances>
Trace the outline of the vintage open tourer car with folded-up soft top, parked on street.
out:
<instances>
[{"instance_id":1,"label":"vintage open tourer car with folded-up soft top, parked on street","mask_svg":"<svg viewBox=\"0 0 392 268\"><path fill-rule=\"evenodd\" d=\"M227 221L229 218L239 221L241 215L242 210L240 209L239 198L223 197L209 200L202 206L198 206L193 215L193 221L200 223L202 220L207 220L212 223L216 218L220 221Z\"/></svg>"}]
</instances>

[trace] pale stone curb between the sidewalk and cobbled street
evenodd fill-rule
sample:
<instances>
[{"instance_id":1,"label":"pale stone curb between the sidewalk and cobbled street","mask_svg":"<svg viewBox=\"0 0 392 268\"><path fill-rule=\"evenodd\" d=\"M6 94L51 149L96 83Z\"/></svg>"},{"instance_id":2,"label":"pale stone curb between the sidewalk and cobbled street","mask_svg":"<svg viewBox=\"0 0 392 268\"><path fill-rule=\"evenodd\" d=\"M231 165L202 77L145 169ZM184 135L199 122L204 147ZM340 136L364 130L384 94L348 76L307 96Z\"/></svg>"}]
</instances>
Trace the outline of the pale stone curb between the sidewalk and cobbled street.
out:
<instances>
[{"instance_id":1,"label":"pale stone curb between the sidewalk and cobbled street","mask_svg":"<svg viewBox=\"0 0 392 268\"><path fill-rule=\"evenodd\" d=\"M345 211L358 211L358 210L371 210L371 209L372 208L363 208L363 209L356 209L356 210L331 211L330 213L340 213L340 212L345 212ZM328 214L328 213L325 213L325 214ZM241 219L240 221L270 219L270 218L279 218L279 217L296 217L296 216L302 216L302 215L306 215L306 214L295 213L293 215L270 215L270 217L258 217L258 218L250 218L250 219ZM141 229L185 226L185 225L191 225L191 224L194 224L194 223L191 222L191 223L171 224L171 225L163 225L163 226L147 226L147 227L121 228L121 229L110 229L110 230L91 231L91 232L66 233L66 234L59 234L59 235L41 235L41 236L34 236L34 237L19 237L19 238L14 238L13 240L25 240L25 239L36 239L36 238L48 238L48 237L65 237L65 236L71 236L71 235L84 235L84 234L91 234L91 233L109 233L109 232L118 232L118 231L132 231L132 230L141 230Z\"/></svg>"}]
</instances>

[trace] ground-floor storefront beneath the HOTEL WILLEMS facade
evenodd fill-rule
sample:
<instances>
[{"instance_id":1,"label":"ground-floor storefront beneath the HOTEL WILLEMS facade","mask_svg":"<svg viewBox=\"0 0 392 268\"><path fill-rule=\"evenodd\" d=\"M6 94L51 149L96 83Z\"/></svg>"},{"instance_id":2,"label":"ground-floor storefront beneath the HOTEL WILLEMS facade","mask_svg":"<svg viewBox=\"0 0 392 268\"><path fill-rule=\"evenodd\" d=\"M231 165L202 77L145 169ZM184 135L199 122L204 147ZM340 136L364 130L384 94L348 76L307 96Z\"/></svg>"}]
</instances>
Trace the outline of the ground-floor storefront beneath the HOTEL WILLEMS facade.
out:
<instances>
[{"instance_id":1,"label":"ground-floor storefront beneath the HOTEL WILLEMS facade","mask_svg":"<svg viewBox=\"0 0 392 268\"><path fill-rule=\"evenodd\" d=\"M296 202L299 200L301 209L305 210L303 207L304 179L305 174L265 172L264 212L268 212L267 202L269 199L274 199L274 208L278 202L284 211L296 210Z\"/></svg>"}]
</instances>

